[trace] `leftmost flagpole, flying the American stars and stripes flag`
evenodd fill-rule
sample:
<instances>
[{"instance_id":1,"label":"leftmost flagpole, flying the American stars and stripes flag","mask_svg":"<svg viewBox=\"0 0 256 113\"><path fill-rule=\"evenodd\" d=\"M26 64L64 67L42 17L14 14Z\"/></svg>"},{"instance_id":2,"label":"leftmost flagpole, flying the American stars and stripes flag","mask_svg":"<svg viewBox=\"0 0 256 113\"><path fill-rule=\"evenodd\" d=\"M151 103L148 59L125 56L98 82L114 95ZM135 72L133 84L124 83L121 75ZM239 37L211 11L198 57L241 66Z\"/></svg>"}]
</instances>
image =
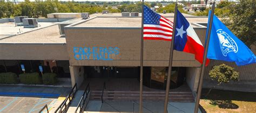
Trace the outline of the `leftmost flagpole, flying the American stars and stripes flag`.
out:
<instances>
[{"instance_id":1,"label":"leftmost flagpole, flying the American stars and stripes flag","mask_svg":"<svg viewBox=\"0 0 256 113\"><path fill-rule=\"evenodd\" d=\"M139 112L142 113L143 90L143 27L144 27L144 0L142 0L142 29L140 37L140 80L139 80Z\"/></svg>"}]
</instances>

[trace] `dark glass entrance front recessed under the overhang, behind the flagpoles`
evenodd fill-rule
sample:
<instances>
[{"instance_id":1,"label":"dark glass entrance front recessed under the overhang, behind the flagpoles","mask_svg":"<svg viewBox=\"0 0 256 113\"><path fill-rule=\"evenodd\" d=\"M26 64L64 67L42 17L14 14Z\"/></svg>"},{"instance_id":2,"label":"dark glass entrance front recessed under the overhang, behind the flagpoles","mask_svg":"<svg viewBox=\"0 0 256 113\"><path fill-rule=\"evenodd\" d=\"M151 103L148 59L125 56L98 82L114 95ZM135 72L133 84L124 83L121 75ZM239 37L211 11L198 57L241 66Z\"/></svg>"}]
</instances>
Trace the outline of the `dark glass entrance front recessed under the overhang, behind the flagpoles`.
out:
<instances>
[{"instance_id":1,"label":"dark glass entrance front recessed under the overhang, behind the flagpoles","mask_svg":"<svg viewBox=\"0 0 256 113\"><path fill-rule=\"evenodd\" d=\"M167 69L167 67L143 67L143 85L148 88L165 90ZM136 81L139 84L139 71L139 67L134 66L84 66L85 79L97 79L102 81L102 84L110 81L117 82L117 79L132 79L133 82ZM186 67L172 67L170 88L176 89L182 86L185 82L185 74Z\"/></svg>"}]
</instances>

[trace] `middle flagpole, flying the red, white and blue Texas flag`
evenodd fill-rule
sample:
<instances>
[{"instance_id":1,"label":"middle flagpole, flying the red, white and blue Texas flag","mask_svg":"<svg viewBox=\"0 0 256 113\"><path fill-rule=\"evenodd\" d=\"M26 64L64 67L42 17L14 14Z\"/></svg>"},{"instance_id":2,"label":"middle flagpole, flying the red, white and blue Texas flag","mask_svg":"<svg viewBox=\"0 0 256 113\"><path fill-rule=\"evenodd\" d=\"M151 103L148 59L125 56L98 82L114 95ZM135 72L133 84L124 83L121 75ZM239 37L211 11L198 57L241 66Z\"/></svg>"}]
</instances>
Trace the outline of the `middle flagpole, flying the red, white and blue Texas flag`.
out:
<instances>
[{"instance_id":1,"label":"middle flagpole, flying the red, white and blue Texas flag","mask_svg":"<svg viewBox=\"0 0 256 113\"><path fill-rule=\"evenodd\" d=\"M167 84L166 84L166 92L165 92L165 102L164 102L164 113L167 113L167 106L169 101L169 91L170 91L170 82L171 82L171 72L172 72L172 57L173 57L173 48L174 48L174 37L176 31L176 18L177 18L177 2L175 4L174 11L174 20L173 20L173 31L172 31L172 41L171 41L171 49L170 49L170 59L169 59L169 68L168 68L168 76L167 76Z\"/></svg>"}]
</instances>

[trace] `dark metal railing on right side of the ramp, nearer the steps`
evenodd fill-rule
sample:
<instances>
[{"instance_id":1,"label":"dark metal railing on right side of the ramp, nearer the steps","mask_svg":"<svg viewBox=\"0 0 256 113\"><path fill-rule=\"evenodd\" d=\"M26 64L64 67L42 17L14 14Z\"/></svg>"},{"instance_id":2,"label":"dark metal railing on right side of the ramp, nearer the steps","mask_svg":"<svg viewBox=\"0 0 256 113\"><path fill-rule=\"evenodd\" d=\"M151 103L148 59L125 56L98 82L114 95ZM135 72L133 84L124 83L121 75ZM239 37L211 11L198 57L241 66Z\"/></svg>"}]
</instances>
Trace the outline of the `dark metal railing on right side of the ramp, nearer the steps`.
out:
<instances>
[{"instance_id":1,"label":"dark metal railing on right side of the ramp, nearer the steps","mask_svg":"<svg viewBox=\"0 0 256 113\"><path fill-rule=\"evenodd\" d=\"M90 93L90 83L87 84L75 112L77 112L78 108L79 108L79 112L83 112L83 108L87 106L86 100L89 97L89 93Z\"/></svg>"}]
</instances>

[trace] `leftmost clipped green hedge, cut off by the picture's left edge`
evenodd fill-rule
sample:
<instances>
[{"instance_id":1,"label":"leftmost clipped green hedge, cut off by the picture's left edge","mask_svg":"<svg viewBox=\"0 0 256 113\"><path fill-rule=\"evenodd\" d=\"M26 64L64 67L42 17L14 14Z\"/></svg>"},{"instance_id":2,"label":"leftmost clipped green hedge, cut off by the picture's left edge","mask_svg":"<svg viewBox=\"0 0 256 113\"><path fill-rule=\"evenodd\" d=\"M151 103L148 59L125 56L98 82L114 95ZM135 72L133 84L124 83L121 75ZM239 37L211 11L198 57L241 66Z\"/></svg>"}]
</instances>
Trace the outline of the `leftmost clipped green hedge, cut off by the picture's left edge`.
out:
<instances>
[{"instance_id":1,"label":"leftmost clipped green hedge, cut off by the picture's left edge","mask_svg":"<svg viewBox=\"0 0 256 113\"><path fill-rule=\"evenodd\" d=\"M17 74L12 72L0 73L0 84L17 84L17 78Z\"/></svg>"}]
</instances>

